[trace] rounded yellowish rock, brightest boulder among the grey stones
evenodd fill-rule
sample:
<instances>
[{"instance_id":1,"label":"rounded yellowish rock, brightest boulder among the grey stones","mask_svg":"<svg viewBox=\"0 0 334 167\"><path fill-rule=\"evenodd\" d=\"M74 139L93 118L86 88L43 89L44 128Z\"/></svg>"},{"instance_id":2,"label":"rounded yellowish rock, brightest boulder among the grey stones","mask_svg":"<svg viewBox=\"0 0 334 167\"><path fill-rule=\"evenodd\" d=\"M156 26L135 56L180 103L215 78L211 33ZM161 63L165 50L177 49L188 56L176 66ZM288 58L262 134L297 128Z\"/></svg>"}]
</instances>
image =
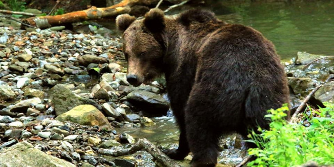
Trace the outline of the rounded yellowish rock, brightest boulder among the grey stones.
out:
<instances>
[{"instance_id":1,"label":"rounded yellowish rock, brightest boulder among the grey stones","mask_svg":"<svg viewBox=\"0 0 334 167\"><path fill-rule=\"evenodd\" d=\"M92 105L79 105L68 112L56 117L59 121L71 121L82 125L99 126L100 128L112 129L107 118L100 110Z\"/></svg>"}]
</instances>

